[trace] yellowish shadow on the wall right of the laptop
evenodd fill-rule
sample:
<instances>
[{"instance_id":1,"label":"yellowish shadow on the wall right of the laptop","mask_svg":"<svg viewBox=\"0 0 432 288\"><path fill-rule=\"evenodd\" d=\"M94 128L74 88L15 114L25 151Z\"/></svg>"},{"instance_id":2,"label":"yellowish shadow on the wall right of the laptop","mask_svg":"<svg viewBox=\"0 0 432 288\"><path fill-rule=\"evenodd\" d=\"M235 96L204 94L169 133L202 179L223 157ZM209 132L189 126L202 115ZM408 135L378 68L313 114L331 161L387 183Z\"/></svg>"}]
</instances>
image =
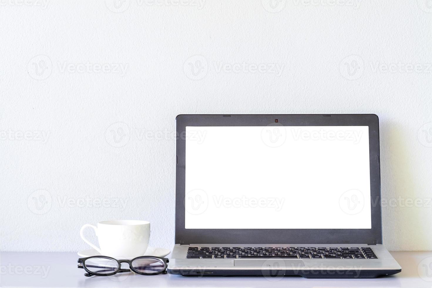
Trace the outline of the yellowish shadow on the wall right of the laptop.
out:
<instances>
[{"instance_id":1,"label":"yellowish shadow on the wall right of the laptop","mask_svg":"<svg viewBox=\"0 0 432 288\"><path fill-rule=\"evenodd\" d=\"M399 123L380 125L382 227L388 250L425 250L430 246L425 229L431 227L426 215L432 203L422 198L412 169L416 163L410 147L417 141L410 139Z\"/></svg>"}]
</instances>

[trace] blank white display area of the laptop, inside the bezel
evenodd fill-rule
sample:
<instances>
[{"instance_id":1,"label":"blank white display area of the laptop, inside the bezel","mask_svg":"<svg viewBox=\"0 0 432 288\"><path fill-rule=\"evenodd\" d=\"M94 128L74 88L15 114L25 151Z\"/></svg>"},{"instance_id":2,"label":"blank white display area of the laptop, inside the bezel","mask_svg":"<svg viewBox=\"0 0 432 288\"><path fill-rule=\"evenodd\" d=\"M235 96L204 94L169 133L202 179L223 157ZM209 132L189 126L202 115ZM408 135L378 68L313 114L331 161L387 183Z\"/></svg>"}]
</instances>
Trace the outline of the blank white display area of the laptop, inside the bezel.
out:
<instances>
[{"instance_id":1,"label":"blank white display area of the laptop, inside the bezel","mask_svg":"<svg viewBox=\"0 0 432 288\"><path fill-rule=\"evenodd\" d=\"M186 127L186 229L370 229L368 126Z\"/></svg>"}]
</instances>

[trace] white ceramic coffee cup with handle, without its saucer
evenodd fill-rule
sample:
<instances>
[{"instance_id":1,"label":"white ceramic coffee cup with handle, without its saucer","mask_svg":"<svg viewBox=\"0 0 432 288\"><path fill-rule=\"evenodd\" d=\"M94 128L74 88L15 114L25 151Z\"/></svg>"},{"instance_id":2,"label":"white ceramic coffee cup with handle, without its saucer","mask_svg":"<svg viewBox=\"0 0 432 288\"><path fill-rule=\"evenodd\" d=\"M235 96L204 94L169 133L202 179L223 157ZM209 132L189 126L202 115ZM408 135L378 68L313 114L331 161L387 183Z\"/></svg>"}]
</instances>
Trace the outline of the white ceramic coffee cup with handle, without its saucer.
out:
<instances>
[{"instance_id":1,"label":"white ceramic coffee cup with handle, without its saucer","mask_svg":"<svg viewBox=\"0 0 432 288\"><path fill-rule=\"evenodd\" d=\"M149 246L150 222L140 220L113 220L98 222L98 227L85 224L79 230L84 242L92 246L100 255L114 258L134 258L143 256ZM99 246L84 237L86 227L92 227L98 237Z\"/></svg>"}]
</instances>

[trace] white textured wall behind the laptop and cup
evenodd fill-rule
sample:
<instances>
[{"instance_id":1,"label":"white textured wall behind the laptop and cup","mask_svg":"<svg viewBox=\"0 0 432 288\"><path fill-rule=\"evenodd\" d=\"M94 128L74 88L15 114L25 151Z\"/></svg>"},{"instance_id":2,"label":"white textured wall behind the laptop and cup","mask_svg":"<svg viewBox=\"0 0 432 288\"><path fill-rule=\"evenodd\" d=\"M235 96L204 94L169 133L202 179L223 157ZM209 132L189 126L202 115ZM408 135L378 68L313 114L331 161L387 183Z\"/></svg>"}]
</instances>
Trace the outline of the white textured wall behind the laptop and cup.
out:
<instances>
[{"instance_id":1,"label":"white textured wall behind the laptop and cup","mask_svg":"<svg viewBox=\"0 0 432 288\"><path fill-rule=\"evenodd\" d=\"M113 1L0 0L1 250L171 248L180 113L378 114L384 242L432 250L431 0Z\"/></svg>"}]
</instances>

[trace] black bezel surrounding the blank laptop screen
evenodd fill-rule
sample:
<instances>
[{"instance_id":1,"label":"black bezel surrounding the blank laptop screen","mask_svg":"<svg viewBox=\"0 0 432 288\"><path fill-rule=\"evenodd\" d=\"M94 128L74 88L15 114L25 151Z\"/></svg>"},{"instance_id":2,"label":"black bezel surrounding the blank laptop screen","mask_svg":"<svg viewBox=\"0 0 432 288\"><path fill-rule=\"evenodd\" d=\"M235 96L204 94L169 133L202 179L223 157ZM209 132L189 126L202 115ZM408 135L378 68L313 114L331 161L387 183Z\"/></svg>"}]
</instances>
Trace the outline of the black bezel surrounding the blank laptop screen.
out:
<instances>
[{"instance_id":1,"label":"black bezel surrounding the blank laptop screen","mask_svg":"<svg viewBox=\"0 0 432 288\"><path fill-rule=\"evenodd\" d=\"M331 115L178 115L177 135L186 126L266 126L275 119L284 126L368 126L371 183L371 229L185 229L185 151L184 137L176 140L175 243L230 244L349 244L382 243L379 128L375 114ZM290 221L287 219L286 221ZM293 220L295 221L295 219Z\"/></svg>"}]
</instances>

